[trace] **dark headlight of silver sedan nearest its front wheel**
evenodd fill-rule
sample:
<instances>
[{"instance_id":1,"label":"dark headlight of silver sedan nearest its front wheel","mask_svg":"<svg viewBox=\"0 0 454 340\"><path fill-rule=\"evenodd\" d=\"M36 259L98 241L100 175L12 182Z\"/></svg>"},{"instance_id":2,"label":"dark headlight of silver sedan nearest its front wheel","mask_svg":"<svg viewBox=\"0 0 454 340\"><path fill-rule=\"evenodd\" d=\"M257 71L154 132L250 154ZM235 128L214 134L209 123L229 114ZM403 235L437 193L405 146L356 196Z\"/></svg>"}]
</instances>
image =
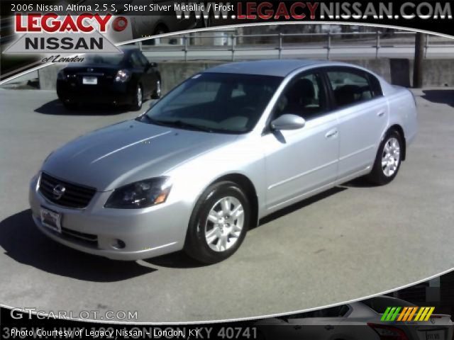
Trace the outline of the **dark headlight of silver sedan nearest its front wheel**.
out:
<instances>
[{"instance_id":1,"label":"dark headlight of silver sedan nearest its front wheel","mask_svg":"<svg viewBox=\"0 0 454 340\"><path fill-rule=\"evenodd\" d=\"M131 183L115 189L104 207L137 209L164 203L171 187L170 179L166 176Z\"/></svg>"}]
</instances>

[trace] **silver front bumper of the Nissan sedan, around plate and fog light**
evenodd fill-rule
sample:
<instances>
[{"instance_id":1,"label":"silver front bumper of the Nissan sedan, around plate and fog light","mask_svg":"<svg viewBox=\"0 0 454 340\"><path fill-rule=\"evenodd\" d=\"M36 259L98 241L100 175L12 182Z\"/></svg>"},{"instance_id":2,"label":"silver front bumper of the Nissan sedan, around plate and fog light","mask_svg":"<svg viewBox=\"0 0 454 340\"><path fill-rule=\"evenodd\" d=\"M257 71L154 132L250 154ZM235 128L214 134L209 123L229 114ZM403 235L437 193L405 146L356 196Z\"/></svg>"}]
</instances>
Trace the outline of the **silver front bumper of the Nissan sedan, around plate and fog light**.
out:
<instances>
[{"instance_id":1,"label":"silver front bumper of the Nissan sedan, around plate and fog light","mask_svg":"<svg viewBox=\"0 0 454 340\"><path fill-rule=\"evenodd\" d=\"M104 208L110 194L97 192L85 209L65 208L40 194L36 176L31 181L29 202L41 232L79 251L134 261L182 249L190 215L184 203L164 203L145 209ZM61 234L41 224L41 207L60 213ZM124 242L121 249L118 240Z\"/></svg>"}]
</instances>

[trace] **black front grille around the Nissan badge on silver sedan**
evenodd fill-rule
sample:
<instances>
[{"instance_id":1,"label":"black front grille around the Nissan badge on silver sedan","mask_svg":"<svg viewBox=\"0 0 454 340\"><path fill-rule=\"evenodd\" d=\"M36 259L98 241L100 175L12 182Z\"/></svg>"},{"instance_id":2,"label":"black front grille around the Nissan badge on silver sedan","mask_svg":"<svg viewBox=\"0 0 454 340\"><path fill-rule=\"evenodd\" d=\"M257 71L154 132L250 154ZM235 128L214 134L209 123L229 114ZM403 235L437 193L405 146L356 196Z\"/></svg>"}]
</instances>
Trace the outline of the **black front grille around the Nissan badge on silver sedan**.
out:
<instances>
[{"instance_id":1,"label":"black front grille around the Nissan badge on silver sedan","mask_svg":"<svg viewBox=\"0 0 454 340\"><path fill-rule=\"evenodd\" d=\"M55 186L60 184L65 187L65 193L60 198L54 196L53 190ZM40 193L57 205L62 205L69 208L85 208L89 205L92 200L95 188L89 188L87 186L79 186L78 184L69 183L62 181L61 179L55 179L44 172L41 174L40 179Z\"/></svg>"}]
</instances>

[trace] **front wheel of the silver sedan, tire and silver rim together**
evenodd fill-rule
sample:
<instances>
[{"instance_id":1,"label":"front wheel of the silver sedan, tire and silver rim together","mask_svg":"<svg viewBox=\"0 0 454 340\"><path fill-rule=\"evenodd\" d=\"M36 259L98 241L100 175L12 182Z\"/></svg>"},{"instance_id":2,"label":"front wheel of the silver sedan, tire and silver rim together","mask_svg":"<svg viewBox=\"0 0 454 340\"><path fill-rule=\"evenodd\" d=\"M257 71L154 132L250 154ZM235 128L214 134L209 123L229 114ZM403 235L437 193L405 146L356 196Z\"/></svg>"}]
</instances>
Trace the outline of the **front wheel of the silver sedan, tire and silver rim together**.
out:
<instances>
[{"instance_id":1,"label":"front wheel of the silver sedan, tire and silver rim together","mask_svg":"<svg viewBox=\"0 0 454 340\"><path fill-rule=\"evenodd\" d=\"M204 191L192 212L184 250L202 263L231 256L245 238L250 223L250 203L231 181L215 183Z\"/></svg>"}]
</instances>

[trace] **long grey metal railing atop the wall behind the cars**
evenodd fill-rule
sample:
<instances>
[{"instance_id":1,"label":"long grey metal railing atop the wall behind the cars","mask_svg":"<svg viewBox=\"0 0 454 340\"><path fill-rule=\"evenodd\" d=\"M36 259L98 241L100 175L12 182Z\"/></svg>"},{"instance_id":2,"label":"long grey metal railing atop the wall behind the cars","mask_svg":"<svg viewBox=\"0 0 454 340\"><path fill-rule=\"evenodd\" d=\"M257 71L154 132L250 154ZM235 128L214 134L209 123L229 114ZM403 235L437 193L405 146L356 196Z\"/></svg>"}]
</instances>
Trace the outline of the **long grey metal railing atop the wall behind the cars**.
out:
<instances>
[{"instance_id":1,"label":"long grey metal railing atop the wall behind the cars","mask_svg":"<svg viewBox=\"0 0 454 340\"><path fill-rule=\"evenodd\" d=\"M215 33L199 33L194 35L184 34L177 35L170 38L160 38L159 44L153 45L153 49L162 52L180 51L184 53L184 60L188 60L190 52L196 51L224 51L229 52L231 60L236 60L236 55L241 51L277 51L279 59L286 50L326 50L325 56L329 60L331 52L334 49L375 49L375 58L379 58L380 49L383 47L414 47L414 32L397 31L397 32L382 32L377 30L375 32L327 32L327 33L268 33L268 34L236 34L228 32L226 35L220 35L222 31ZM443 43L436 43L436 38L429 38L427 35L426 45L424 46L424 57L432 47L454 47L454 40L444 38ZM223 45L216 45L214 43L207 45L197 45L194 41L201 39L219 39L223 38L226 43ZM244 40L254 40L255 42L245 44ZM286 40L292 38L293 42L288 43ZM305 39L306 38L306 39ZM407 42L402 39L407 38ZM274 40L273 42L262 42L263 40ZM165 44L165 40L172 40L172 45ZM301 40L295 42L295 40ZM306 40L306 41L304 41ZM176 43L175 43L176 41ZM293 45L292 45L293 44ZM304 44L304 45L302 45ZM144 51L151 47L140 43L140 48Z\"/></svg>"}]
</instances>

